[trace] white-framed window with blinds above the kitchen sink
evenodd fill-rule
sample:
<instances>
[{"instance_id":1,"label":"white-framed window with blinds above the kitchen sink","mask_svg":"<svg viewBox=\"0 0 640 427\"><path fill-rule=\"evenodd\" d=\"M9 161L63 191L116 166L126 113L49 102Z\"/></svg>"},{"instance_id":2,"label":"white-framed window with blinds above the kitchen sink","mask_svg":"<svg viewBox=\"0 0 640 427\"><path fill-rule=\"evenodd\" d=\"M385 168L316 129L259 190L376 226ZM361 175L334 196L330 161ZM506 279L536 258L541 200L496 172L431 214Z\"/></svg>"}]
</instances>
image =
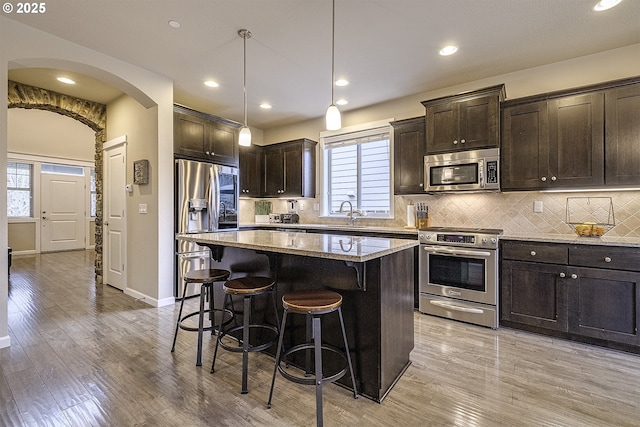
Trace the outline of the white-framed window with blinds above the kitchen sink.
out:
<instances>
[{"instance_id":1,"label":"white-framed window with blinds above the kitchen sink","mask_svg":"<svg viewBox=\"0 0 640 427\"><path fill-rule=\"evenodd\" d=\"M338 214L349 201L369 217L393 217L389 122L323 132L320 140L324 213Z\"/></svg>"}]
</instances>

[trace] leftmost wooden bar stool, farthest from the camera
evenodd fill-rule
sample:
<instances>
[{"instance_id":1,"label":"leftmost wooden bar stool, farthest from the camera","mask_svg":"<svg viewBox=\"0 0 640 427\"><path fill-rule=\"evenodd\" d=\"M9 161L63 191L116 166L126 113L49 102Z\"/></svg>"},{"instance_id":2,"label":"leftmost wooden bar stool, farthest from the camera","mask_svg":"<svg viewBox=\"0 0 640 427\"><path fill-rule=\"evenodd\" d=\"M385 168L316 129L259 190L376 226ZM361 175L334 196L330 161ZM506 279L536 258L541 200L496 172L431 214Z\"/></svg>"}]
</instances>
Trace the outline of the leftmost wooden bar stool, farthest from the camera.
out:
<instances>
[{"instance_id":1,"label":"leftmost wooden bar stool, farthest from the camera","mask_svg":"<svg viewBox=\"0 0 640 427\"><path fill-rule=\"evenodd\" d=\"M213 334L215 326L215 313L220 312L220 322L228 324L234 316L233 311L224 309L215 309L213 304L213 284L215 282L221 282L229 278L229 272L227 270L209 269L192 270L184 276L184 290L182 291L182 301L180 302L180 311L178 312L178 321L176 322L176 332L173 334L173 345L171 346L171 352L176 349L176 339L178 338L178 329L184 329L185 331L198 332L198 350L196 356L196 366L202 366L202 333L204 331L211 331ZM187 288L192 283L200 283L200 310L189 313L182 316L182 308L184 307L184 300L187 295ZM209 300L209 308L205 309L205 301ZM210 326L204 326L204 316L209 314L211 319ZM229 317L225 320L225 314ZM198 327L187 326L185 321L194 316L198 316Z\"/></svg>"}]
</instances>

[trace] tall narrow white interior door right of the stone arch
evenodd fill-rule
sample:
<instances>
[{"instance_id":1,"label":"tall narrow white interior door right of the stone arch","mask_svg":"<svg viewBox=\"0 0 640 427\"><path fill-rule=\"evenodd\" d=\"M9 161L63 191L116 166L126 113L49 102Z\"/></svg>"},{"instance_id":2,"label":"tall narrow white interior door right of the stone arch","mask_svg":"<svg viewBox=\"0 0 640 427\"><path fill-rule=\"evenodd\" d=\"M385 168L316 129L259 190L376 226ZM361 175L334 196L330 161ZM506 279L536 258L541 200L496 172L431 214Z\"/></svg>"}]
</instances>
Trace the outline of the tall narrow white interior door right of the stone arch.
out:
<instances>
[{"instance_id":1,"label":"tall narrow white interior door right of the stone arch","mask_svg":"<svg viewBox=\"0 0 640 427\"><path fill-rule=\"evenodd\" d=\"M126 276L126 145L105 143L103 154L103 282L124 290Z\"/></svg>"}]
</instances>

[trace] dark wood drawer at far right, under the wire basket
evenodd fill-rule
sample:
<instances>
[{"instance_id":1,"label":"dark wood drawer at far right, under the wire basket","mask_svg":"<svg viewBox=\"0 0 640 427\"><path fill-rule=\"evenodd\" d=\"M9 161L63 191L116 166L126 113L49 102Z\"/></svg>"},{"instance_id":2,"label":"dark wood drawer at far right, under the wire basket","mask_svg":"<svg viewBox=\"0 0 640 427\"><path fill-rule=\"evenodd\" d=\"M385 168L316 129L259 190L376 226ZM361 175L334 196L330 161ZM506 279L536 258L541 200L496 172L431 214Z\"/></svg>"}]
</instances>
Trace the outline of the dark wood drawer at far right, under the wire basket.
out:
<instances>
[{"instance_id":1,"label":"dark wood drawer at far right, under the wire basket","mask_svg":"<svg viewBox=\"0 0 640 427\"><path fill-rule=\"evenodd\" d=\"M569 247L571 265L640 271L640 248L576 245Z\"/></svg>"}]
</instances>

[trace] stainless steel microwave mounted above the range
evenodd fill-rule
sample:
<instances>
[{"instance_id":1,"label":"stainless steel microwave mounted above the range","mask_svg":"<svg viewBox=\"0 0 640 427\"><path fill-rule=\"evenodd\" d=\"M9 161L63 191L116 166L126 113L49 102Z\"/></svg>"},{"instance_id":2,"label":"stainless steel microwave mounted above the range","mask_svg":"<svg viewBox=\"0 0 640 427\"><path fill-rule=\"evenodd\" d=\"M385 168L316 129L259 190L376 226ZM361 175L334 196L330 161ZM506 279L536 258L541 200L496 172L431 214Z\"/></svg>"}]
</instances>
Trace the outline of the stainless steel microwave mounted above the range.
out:
<instances>
[{"instance_id":1,"label":"stainless steel microwave mounted above the range","mask_svg":"<svg viewBox=\"0 0 640 427\"><path fill-rule=\"evenodd\" d=\"M424 189L499 191L500 149L458 151L424 156Z\"/></svg>"}]
</instances>

